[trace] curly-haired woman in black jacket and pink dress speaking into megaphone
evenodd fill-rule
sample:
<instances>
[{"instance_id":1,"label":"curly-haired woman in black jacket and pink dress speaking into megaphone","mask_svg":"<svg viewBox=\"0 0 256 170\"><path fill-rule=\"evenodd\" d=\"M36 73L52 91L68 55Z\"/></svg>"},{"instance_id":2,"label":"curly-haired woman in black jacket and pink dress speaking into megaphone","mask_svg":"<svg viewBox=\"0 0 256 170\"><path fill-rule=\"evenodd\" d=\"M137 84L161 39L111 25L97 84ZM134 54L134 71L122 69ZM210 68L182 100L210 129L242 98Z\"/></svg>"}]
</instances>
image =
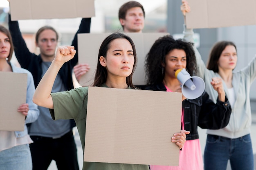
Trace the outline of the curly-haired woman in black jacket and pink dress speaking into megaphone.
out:
<instances>
[{"instance_id":1,"label":"curly-haired woman in black jacket and pink dress speaking into megaphone","mask_svg":"<svg viewBox=\"0 0 256 170\"><path fill-rule=\"evenodd\" d=\"M190 75L193 75L196 73L196 68L195 53L191 43L180 39L175 40L170 35L160 37L146 56L146 89L181 92L182 84L175 76L175 72L185 69L181 72L187 70ZM176 74L181 73L176 72ZM196 87L195 81L192 83L194 83L195 89L200 88ZM190 134L186 135L186 142L180 151L179 166L150 165L150 170L203 170L197 127L200 126L203 129L223 128L227 126L231 114L231 107L225 97L220 78L212 79L212 87L218 93L216 104L209 99L209 95L204 90L195 99L188 99L182 95L181 129L190 131Z\"/></svg>"}]
</instances>

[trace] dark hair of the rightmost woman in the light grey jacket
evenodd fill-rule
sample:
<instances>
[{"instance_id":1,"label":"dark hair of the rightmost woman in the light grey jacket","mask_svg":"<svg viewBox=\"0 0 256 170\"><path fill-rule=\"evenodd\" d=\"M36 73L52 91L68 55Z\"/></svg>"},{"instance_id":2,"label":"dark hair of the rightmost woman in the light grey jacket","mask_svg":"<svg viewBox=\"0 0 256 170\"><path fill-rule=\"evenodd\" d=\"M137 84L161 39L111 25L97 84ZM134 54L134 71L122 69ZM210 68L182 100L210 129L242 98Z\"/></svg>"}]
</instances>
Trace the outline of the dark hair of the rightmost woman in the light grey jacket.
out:
<instances>
[{"instance_id":1,"label":"dark hair of the rightmost woman in the light grey jacket","mask_svg":"<svg viewBox=\"0 0 256 170\"><path fill-rule=\"evenodd\" d=\"M217 73L219 72L218 61L220 59L220 55L222 51L227 46L234 46L236 48L236 45L231 41L219 41L213 46L213 48L211 49L208 64L207 64L208 70L213 70L213 72L217 72Z\"/></svg>"}]
</instances>

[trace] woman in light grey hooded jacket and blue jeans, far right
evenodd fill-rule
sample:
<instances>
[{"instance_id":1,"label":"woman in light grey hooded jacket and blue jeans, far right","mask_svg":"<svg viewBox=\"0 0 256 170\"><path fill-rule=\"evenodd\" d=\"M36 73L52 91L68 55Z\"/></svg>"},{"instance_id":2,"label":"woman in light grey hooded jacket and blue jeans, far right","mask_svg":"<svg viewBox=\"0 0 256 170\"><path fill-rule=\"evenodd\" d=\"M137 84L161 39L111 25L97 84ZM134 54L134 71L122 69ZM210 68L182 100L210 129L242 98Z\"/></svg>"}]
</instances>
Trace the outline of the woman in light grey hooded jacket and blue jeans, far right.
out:
<instances>
[{"instance_id":1,"label":"woman in light grey hooded jacket and blue jeans, far right","mask_svg":"<svg viewBox=\"0 0 256 170\"><path fill-rule=\"evenodd\" d=\"M186 1L182 2L181 10L184 15L190 11ZM184 39L193 42L192 29L184 27ZM232 170L253 170L254 156L250 137L252 113L249 92L256 78L256 57L243 69L234 72L238 57L236 45L233 42L217 42L210 52L207 66L195 47L194 50L198 63L197 75L204 79L210 98L216 99L217 94L209 80L212 77L219 77L232 108L229 124L225 128L215 131L207 130L204 169L226 170L229 160Z\"/></svg>"}]
</instances>

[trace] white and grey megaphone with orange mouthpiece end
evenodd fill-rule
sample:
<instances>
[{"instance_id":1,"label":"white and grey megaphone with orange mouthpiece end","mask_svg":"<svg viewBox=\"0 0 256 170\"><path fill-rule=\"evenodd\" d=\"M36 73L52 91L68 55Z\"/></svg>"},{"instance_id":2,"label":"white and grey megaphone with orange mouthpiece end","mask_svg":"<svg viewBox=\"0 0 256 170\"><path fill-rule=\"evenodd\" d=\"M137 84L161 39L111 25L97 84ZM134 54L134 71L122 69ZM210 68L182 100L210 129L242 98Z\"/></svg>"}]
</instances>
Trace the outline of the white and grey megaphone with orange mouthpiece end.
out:
<instances>
[{"instance_id":1,"label":"white and grey megaphone with orange mouthpiece end","mask_svg":"<svg viewBox=\"0 0 256 170\"><path fill-rule=\"evenodd\" d=\"M175 72L175 77L180 81L182 94L188 99L195 99L204 92L204 80L198 76L190 76L183 68Z\"/></svg>"}]
</instances>

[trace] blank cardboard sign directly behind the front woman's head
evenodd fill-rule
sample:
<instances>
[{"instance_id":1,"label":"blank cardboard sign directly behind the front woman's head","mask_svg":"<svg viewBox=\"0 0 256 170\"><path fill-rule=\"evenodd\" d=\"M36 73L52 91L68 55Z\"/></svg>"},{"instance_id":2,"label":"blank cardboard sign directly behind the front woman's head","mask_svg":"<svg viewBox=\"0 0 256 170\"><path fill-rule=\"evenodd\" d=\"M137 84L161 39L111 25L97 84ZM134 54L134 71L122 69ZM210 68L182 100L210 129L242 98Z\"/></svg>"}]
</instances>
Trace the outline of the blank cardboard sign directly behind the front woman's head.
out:
<instances>
[{"instance_id":1,"label":"blank cardboard sign directly behind the front woman's head","mask_svg":"<svg viewBox=\"0 0 256 170\"><path fill-rule=\"evenodd\" d=\"M144 61L146 54L156 39L169 33L126 33L132 38L135 44L138 62L136 70L132 76L134 85L145 85ZM84 74L79 83L82 86L92 85L94 81L95 70L97 68L97 60L99 47L102 41L110 33L84 33L78 34L78 57L79 63L88 63L90 70Z\"/></svg>"}]
</instances>

